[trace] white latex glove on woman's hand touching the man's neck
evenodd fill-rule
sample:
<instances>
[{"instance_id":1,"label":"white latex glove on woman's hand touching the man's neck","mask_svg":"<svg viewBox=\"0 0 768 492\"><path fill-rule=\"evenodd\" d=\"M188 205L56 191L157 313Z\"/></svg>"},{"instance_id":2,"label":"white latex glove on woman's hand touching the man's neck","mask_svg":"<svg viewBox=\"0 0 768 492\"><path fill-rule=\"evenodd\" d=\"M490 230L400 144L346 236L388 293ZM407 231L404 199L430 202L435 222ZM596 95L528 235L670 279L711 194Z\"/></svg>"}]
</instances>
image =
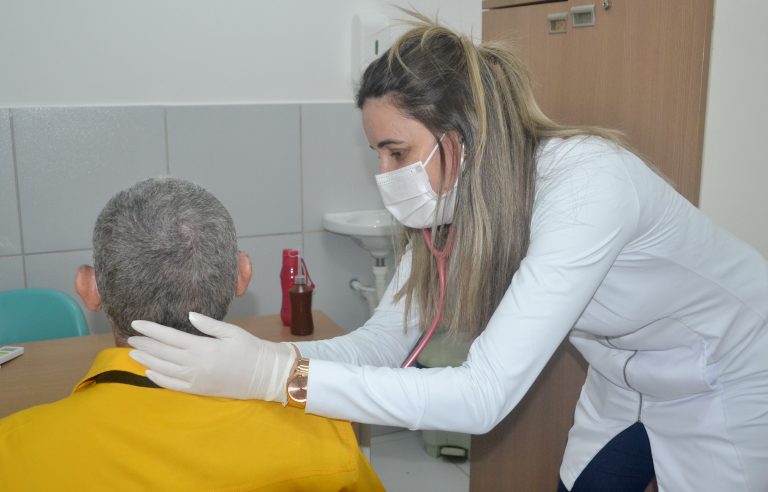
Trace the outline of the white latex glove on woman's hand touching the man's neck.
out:
<instances>
[{"instance_id":1,"label":"white latex glove on woman's hand touching the man's neck","mask_svg":"<svg viewBox=\"0 0 768 492\"><path fill-rule=\"evenodd\" d=\"M130 337L138 350L129 355L147 367L147 377L176 391L241 400L277 401L285 405L296 352L285 342L262 340L239 326L189 313L203 333L191 335L151 321L131 326L146 337Z\"/></svg>"}]
</instances>

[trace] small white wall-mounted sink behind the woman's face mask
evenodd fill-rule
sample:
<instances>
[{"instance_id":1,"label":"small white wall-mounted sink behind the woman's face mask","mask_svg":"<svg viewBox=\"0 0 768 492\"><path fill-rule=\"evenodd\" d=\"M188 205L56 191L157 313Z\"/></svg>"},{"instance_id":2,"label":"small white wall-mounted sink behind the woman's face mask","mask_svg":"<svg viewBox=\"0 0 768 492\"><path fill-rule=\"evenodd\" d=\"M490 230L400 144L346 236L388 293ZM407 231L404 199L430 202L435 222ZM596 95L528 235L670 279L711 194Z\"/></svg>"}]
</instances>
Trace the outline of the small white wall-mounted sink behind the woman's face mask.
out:
<instances>
[{"instance_id":1,"label":"small white wall-mounted sink behind the woman's face mask","mask_svg":"<svg viewBox=\"0 0 768 492\"><path fill-rule=\"evenodd\" d=\"M337 234L350 236L374 258L384 258L392 251L397 225L386 210L358 210L327 213L323 227Z\"/></svg>"}]
</instances>

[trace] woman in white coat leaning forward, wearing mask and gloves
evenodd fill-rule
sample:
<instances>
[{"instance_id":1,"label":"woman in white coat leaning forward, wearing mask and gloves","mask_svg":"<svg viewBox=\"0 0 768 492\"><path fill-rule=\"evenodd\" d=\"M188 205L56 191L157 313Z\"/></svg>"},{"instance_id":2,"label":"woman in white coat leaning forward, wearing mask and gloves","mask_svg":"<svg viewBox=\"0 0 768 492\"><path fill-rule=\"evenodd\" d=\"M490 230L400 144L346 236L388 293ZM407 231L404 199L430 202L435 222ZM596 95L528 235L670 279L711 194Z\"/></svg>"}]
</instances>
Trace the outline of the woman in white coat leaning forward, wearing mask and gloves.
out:
<instances>
[{"instance_id":1,"label":"woman in white coat leaning forward, wearing mask and gloves","mask_svg":"<svg viewBox=\"0 0 768 492\"><path fill-rule=\"evenodd\" d=\"M668 491L768 490L763 257L613 133L549 120L504 48L422 19L368 67L357 103L405 226L373 317L295 347L199 315L213 338L136 322L151 338L129 340L132 356L152 380L481 434L569 336L590 367L561 490L643 490L654 474ZM401 368L437 315L447 253L442 325L474 337L469 357Z\"/></svg>"}]
</instances>

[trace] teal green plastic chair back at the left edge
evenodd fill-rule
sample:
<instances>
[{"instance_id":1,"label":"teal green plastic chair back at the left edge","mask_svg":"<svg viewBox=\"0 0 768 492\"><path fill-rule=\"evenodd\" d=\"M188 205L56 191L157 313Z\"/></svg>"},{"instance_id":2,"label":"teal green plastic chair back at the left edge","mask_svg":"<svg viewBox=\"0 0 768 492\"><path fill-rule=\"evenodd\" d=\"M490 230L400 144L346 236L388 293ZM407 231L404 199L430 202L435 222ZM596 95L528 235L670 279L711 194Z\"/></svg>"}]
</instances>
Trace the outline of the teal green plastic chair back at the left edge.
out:
<instances>
[{"instance_id":1,"label":"teal green plastic chair back at the left edge","mask_svg":"<svg viewBox=\"0 0 768 492\"><path fill-rule=\"evenodd\" d=\"M80 306L61 291L0 291L0 345L87 334Z\"/></svg>"}]
</instances>

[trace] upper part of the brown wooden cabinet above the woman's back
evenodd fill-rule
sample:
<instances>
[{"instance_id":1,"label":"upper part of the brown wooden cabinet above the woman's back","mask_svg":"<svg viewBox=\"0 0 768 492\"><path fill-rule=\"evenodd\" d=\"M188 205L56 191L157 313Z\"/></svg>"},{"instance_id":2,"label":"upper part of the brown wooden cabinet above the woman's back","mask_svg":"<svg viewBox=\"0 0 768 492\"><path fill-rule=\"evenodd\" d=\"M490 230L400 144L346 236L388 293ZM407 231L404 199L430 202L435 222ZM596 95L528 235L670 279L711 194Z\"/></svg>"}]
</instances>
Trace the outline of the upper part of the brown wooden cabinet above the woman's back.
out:
<instances>
[{"instance_id":1,"label":"upper part of the brown wooden cabinet above the woman's back","mask_svg":"<svg viewBox=\"0 0 768 492\"><path fill-rule=\"evenodd\" d=\"M549 34L547 15L595 7L595 25ZM556 121L624 132L697 204L713 0L569 0L487 10L483 38L509 41Z\"/></svg>"}]
</instances>

